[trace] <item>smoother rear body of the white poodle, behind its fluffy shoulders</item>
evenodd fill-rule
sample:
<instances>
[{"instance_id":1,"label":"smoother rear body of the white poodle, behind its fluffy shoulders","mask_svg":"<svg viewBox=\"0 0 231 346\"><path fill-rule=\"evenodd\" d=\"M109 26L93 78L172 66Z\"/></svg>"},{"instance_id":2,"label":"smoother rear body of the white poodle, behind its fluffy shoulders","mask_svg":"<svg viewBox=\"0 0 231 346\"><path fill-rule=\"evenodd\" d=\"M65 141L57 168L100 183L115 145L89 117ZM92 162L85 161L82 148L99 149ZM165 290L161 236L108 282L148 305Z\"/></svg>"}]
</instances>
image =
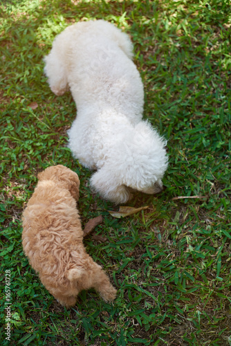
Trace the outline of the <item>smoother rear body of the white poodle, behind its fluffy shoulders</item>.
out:
<instances>
[{"instance_id":1,"label":"smoother rear body of the white poodle, behind its fluffy shoulders","mask_svg":"<svg viewBox=\"0 0 231 346\"><path fill-rule=\"evenodd\" d=\"M144 94L131 62L132 48L129 37L107 21L73 24L55 38L45 57L50 89L60 95L69 86L78 116L89 104L101 109L107 104L114 111L131 114L131 121L134 115L140 120Z\"/></svg>"}]
</instances>

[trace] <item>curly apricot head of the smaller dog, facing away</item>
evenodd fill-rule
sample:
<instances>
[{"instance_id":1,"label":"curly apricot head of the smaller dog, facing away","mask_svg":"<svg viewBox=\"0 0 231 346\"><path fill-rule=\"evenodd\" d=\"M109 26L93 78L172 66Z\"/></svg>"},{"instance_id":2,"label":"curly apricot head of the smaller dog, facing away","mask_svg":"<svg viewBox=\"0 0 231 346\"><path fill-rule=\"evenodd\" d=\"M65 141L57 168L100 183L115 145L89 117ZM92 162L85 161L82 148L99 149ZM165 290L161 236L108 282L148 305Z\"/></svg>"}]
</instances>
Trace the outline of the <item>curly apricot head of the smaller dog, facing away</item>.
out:
<instances>
[{"instance_id":1,"label":"curly apricot head of the smaller dog, facing away","mask_svg":"<svg viewBox=\"0 0 231 346\"><path fill-rule=\"evenodd\" d=\"M75 172L63 165L50 166L38 174L39 181L52 180L60 187L66 188L71 195L78 201L80 179Z\"/></svg>"}]
</instances>

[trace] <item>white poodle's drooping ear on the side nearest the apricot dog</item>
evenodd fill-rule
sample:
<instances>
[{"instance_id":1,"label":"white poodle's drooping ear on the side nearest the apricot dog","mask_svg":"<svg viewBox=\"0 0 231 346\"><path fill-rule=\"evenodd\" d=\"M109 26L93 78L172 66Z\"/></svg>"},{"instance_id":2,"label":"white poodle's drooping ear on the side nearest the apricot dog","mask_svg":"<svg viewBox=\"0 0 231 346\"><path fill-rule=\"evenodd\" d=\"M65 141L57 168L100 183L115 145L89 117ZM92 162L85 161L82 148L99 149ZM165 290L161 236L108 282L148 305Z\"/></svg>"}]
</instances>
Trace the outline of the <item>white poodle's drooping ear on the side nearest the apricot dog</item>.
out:
<instances>
[{"instance_id":1,"label":"white poodle's drooping ear on the side nearest the apricot dog","mask_svg":"<svg viewBox=\"0 0 231 346\"><path fill-rule=\"evenodd\" d=\"M109 199L115 204L125 203L131 196L126 186L116 183L113 173L105 168L101 168L91 176L91 186L104 199Z\"/></svg>"}]
</instances>

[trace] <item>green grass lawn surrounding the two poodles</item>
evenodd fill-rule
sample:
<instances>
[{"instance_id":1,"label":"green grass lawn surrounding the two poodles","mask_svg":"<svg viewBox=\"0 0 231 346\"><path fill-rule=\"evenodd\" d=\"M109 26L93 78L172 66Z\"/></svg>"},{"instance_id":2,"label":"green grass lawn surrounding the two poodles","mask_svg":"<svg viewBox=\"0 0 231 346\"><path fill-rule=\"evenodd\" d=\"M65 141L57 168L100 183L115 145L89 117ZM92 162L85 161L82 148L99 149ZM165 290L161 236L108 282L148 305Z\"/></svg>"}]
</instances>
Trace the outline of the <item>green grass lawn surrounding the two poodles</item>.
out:
<instances>
[{"instance_id":1,"label":"green grass lawn surrounding the two poodles","mask_svg":"<svg viewBox=\"0 0 231 346\"><path fill-rule=\"evenodd\" d=\"M1 345L6 270L12 345L231 345L230 1L12 0L1 14ZM89 189L66 148L75 103L43 75L55 35L80 19L131 35L144 116L168 140L164 192L137 194L129 206L149 209L126 219ZM95 233L107 242L84 244L118 289L113 304L90 290L62 308L24 256L21 212L37 172L57 163L80 175L82 224L104 217Z\"/></svg>"}]
</instances>

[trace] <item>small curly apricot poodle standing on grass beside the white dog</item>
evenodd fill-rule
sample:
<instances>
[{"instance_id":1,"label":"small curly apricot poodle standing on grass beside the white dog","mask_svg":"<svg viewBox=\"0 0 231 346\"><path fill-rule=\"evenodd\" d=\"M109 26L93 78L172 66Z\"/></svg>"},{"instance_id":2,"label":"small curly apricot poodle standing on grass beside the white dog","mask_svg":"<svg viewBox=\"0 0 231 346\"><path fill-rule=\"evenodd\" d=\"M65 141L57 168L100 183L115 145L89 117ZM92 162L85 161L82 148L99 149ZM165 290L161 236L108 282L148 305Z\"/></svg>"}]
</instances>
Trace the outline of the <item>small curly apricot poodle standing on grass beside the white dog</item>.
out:
<instances>
[{"instance_id":1,"label":"small curly apricot poodle standing on grass beside the white dog","mask_svg":"<svg viewBox=\"0 0 231 346\"><path fill-rule=\"evenodd\" d=\"M23 247L46 289L65 307L93 287L106 301L115 299L109 277L86 253L76 208L80 181L63 165L38 174L39 182L23 214Z\"/></svg>"}]
</instances>

